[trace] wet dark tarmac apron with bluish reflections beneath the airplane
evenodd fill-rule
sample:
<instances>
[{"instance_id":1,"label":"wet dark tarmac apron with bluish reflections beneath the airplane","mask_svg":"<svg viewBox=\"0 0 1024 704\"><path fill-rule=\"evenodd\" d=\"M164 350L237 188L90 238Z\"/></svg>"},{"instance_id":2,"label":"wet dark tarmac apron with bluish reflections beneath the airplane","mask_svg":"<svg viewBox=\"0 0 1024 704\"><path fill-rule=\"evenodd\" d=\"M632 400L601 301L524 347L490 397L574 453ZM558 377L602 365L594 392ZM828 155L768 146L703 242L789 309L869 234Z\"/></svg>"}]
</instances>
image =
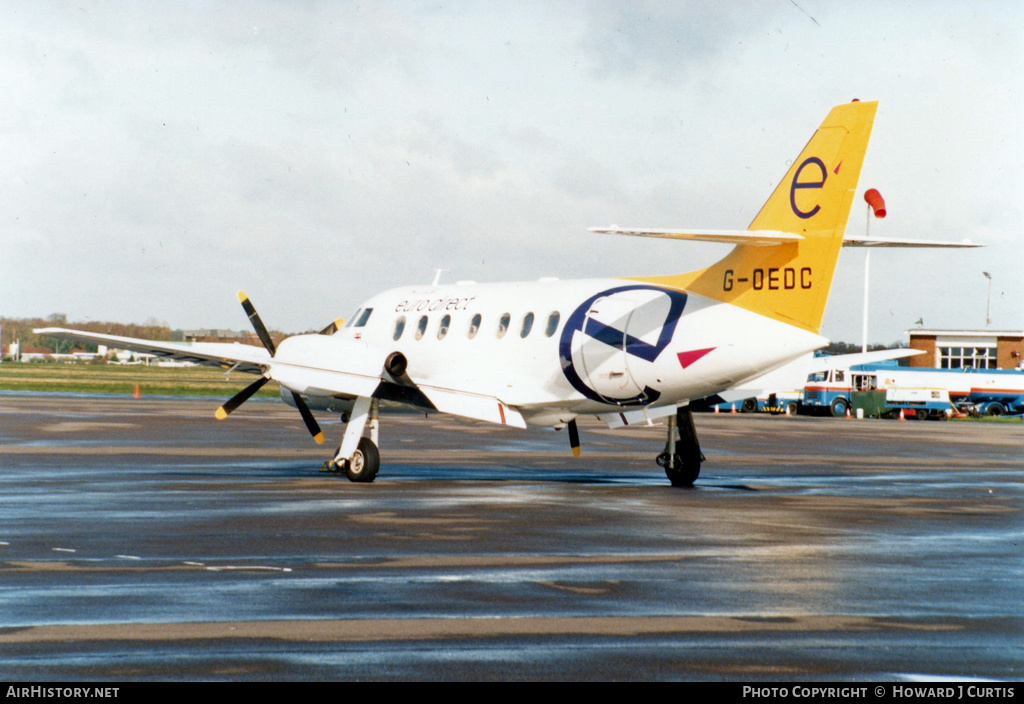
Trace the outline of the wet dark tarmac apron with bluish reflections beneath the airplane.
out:
<instances>
[{"instance_id":1,"label":"wet dark tarmac apron with bluish reflections beneath the airplane","mask_svg":"<svg viewBox=\"0 0 1024 704\"><path fill-rule=\"evenodd\" d=\"M0 395L5 679L1019 679L1024 425L382 417ZM341 426L322 416L329 442Z\"/></svg>"}]
</instances>

